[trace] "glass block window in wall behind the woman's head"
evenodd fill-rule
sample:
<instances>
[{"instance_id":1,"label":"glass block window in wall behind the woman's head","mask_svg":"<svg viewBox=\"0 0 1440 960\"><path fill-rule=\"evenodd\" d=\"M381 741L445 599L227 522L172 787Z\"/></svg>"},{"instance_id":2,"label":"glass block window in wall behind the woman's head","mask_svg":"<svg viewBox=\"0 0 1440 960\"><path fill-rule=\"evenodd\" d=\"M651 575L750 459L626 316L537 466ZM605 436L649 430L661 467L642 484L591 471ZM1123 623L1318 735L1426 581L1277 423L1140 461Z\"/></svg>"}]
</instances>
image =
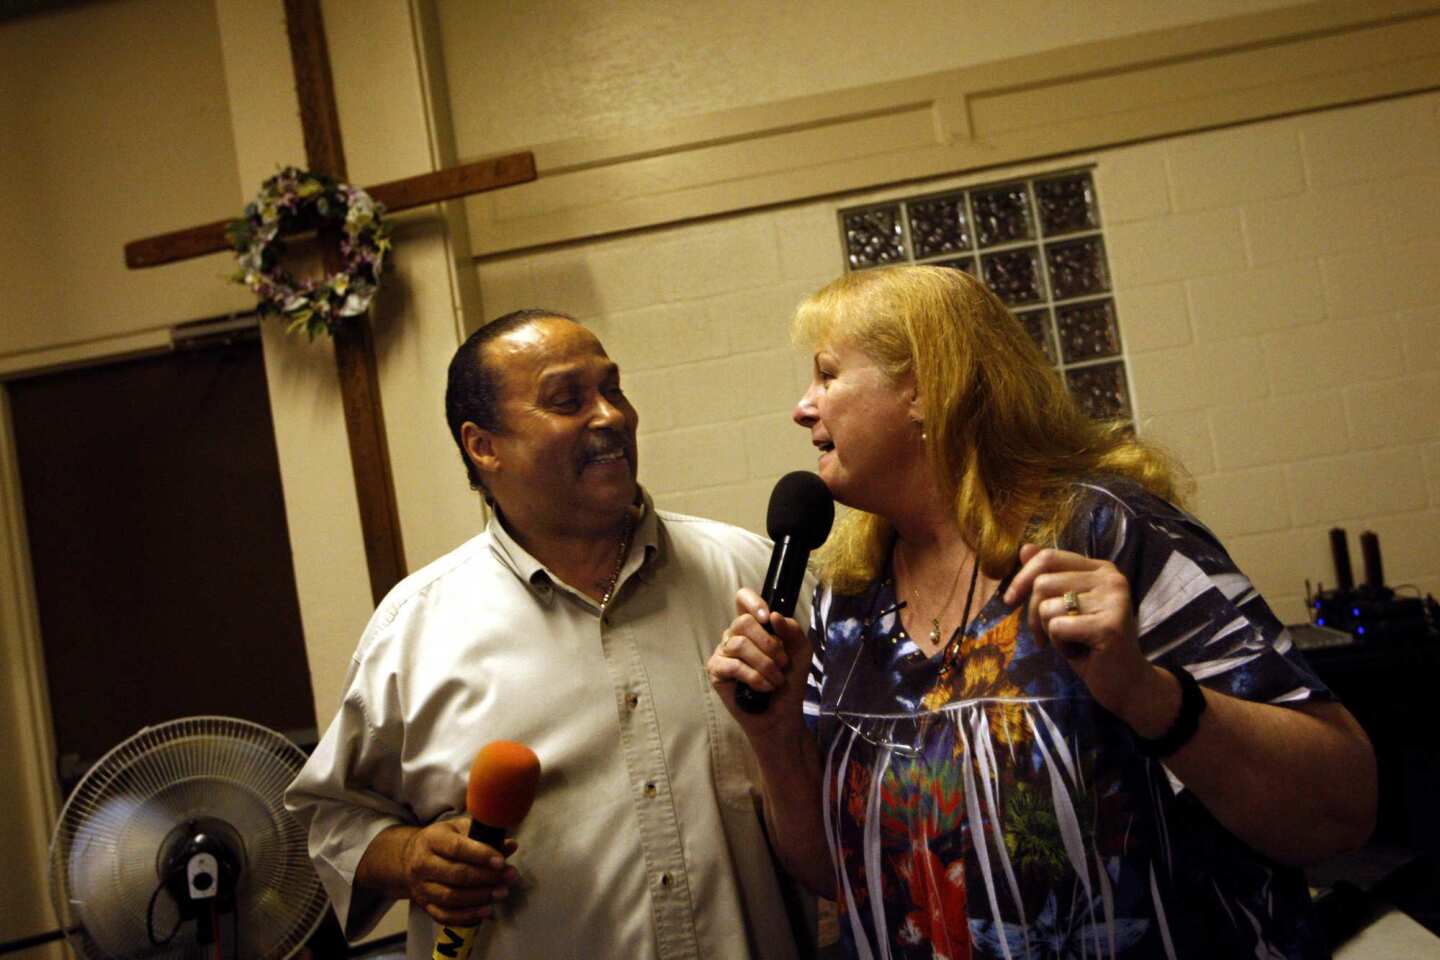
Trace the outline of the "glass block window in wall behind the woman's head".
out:
<instances>
[{"instance_id":1,"label":"glass block window in wall behind the woman's head","mask_svg":"<svg viewBox=\"0 0 1440 960\"><path fill-rule=\"evenodd\" d=\"M965 271L1015 312L1092 416L1133 416L1089 170L841 210L840 219L848 269Z\"/></svg>"}]
</instances>

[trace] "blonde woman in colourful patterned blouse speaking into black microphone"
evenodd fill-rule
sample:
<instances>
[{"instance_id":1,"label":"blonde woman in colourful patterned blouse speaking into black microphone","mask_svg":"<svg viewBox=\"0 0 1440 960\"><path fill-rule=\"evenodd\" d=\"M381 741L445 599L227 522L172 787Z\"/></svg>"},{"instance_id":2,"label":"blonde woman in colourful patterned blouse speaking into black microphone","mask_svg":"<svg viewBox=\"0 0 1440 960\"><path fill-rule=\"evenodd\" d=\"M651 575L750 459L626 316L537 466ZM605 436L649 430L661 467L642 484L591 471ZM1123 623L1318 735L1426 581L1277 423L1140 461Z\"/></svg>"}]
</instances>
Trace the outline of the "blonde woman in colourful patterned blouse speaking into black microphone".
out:
<instances>
[{"instance_id":1,"label":"blonde woman in colourful patterned blouse speaking into black microphone","mask_svg":"<svg viewBox=\"0 0 1440 960\"><path fill-rule=\"evenodd\" d=\"M795 334L850 511L808 635L742 590L708 671L850 954L1328 956L1297 866L1369 835L1374 754L1166 459L959 271L844 276Z\"/></svg>"}]
</instances>

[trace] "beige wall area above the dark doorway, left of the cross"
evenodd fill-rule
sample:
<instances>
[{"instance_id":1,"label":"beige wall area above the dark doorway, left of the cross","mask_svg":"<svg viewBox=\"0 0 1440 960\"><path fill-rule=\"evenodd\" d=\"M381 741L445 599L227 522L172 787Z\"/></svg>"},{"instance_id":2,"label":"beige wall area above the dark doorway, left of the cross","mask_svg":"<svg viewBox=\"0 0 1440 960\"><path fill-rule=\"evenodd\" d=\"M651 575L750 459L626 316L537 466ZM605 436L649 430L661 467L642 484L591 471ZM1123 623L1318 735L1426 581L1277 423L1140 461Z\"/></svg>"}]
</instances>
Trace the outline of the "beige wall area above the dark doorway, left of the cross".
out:
<instances>
[{"instance_id":1,"label":"beige wall area above the dark doorway, left of the cross","mask_svg":"<svg viewBox=\"0 0 1440 960\"><path fill-rule=\"evenodd\" d=\"M238 212L228 102L209 3L117 0L0 24L0 363L252 305L216 282L228 255L150 271L121 255Z\"/></svg>"}]
</instances>

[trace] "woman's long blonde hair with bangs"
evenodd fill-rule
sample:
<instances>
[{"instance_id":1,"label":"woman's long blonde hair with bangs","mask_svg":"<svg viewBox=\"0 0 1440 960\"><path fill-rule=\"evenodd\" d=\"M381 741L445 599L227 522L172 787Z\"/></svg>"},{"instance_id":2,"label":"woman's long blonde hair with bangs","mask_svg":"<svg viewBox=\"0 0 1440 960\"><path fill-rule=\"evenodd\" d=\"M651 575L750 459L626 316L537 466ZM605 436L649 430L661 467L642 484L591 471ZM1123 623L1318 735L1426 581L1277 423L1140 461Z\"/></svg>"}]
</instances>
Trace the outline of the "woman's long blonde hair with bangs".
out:
<instances>
[{"instance_id":1,"label":"woman's long blonde hair with bangs","mask_svg":"<svg viewBox=\"0 0 1440 960\"><path fill-rule=\"evenodd\" d=\"M1087 416L1020 321L968 273L848 273L799 305L792 334L806 348L847 340L893 383L914 374L936 481L989 577L1014 569L1021 543L1057 541L1077 479L1128 476L1182 499L1178 466L1125 425ZM822 577L841 593L863 590L893 537L881 517L847 511L816 556Z\"/></svg>"}]
</instances>

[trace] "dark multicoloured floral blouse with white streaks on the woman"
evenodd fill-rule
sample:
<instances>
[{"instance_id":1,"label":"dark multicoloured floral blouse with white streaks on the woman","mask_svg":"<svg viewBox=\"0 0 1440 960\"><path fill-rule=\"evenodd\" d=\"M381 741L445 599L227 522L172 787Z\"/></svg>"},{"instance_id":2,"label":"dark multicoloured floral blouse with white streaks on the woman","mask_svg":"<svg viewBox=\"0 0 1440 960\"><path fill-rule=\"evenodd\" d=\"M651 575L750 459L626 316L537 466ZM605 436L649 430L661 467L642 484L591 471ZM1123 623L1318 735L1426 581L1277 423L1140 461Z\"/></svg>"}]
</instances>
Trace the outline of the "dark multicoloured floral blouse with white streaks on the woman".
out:
<instances>
[{"instance_id":1,"label":"dark multicoloured floral blouse with white streaks on the woman","mask_svg":"<svg viewBox=\"0 0 1440 960\"><path fill-rule=\"evenodd\" d=\"M1329 697L1182 511L1096 484L1061 545L1129 577L1153 662L1248 699ZM906 636L888 577L818 594L806 712L851 954L1326 956L1299 871L1244 846L1139 754L1002 593L933 659Z\"/></svg>"}]
</instances>

